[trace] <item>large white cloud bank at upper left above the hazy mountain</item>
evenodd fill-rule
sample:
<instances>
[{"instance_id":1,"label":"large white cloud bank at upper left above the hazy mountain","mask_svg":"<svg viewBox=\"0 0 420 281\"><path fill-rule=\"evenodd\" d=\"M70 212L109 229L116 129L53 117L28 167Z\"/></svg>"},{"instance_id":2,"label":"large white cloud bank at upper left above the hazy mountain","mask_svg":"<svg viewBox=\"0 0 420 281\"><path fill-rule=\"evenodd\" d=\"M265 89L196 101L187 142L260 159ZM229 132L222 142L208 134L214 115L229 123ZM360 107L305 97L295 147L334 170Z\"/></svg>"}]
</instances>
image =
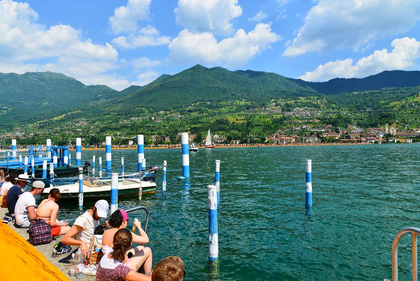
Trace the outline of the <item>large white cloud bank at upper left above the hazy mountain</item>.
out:
<instances>
[{"instance_id":1,"label":"large white cloud bank at upper left above the hazy mountain","mask_svg":"<svg viewBox=\"0 0 420 281\"><path fill-rule=\"evenodd\" d=\"M47 28L37 18L28 3L0 1L0 72L53 71L85 84L115 89L130 85L124 77L107 73L121 67L110 44L83 40L82 31L69 25Z\"/></svg>"}]
</instances>

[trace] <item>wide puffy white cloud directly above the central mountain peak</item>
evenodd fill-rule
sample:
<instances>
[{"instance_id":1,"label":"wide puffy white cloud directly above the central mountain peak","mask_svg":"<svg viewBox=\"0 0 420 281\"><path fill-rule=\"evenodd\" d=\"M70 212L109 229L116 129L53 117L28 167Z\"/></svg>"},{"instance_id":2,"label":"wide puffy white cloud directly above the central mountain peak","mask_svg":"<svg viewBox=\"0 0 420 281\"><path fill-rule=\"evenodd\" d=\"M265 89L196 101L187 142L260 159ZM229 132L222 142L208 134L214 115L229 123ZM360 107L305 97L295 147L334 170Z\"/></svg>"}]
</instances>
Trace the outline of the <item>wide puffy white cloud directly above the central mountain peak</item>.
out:
<instances>
[{"instance_id":1,"label":"wide puffy white cloud directly above the central mountain peak","mask_svg":"<svg viewBox=\"0 0 420 281\"><path fill-rule=\"evenodd\" d=\"M281 36L271 32L269 24L257 24L248 33L239 29L232 37L220 42L211 33L195 34L184 29L169 44L169 60L226 67L242 66L281 39Z\"/></svg>"}]
</instances>

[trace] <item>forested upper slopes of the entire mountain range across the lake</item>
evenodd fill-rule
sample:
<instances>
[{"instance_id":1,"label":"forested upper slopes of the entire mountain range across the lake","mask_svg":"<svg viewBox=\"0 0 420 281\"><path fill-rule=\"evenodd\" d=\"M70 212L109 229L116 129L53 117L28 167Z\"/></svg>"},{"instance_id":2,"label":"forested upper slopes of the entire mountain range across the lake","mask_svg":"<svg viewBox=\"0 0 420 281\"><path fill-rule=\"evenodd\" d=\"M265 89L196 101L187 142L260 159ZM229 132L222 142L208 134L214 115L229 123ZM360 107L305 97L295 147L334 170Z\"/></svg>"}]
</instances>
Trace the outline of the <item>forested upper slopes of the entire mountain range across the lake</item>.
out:
<instances>
[{"instance_id":1,"label":"forested upper slopes of the entire mountain range across the lake","mask_svg":"<svg viewBox=\"0 0 420 281\"><path fill-rule=\"evenodd\" d=\"M418 85L420 71L384 71L363 79L306 82L270 72L196 65L173 76L164 74L145 86L116 91L104 85L87 86L61 73L0 73L0 118L2 130L8 131L16 125L53 118L63 122L78 118L92 121L103 116L127 117L188 108L198 102L217 108L221 102L245 100L256 107L272 99L305 96L327 97L337 107L349 109L387 108L391 102L418 93Z\"/></svg>"}]
</instances>

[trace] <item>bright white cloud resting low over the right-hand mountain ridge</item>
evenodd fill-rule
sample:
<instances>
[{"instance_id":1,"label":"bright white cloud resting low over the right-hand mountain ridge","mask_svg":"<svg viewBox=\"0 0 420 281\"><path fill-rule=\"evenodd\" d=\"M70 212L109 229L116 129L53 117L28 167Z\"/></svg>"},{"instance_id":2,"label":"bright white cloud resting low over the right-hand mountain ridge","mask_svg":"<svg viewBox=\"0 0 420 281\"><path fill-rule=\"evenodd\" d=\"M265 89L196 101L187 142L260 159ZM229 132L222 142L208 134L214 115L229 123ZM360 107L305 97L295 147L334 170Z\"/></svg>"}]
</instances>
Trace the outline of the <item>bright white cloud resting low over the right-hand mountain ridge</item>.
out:
<instances>
[{"instance_id":1,"label":"bright white cloud resting low over the right-hand mountain ridge","mask_svg":"<svg viewBox=\"0 0 420 281\"><path fill-rule=\"evenodd\" d=\"M299 78L305 81L327 81L336 77L364 78L384 70L406 69L420 58L420 42L414 38L395 39L391 46L391 52L387 49L377 50L354 64L352 59L346 59L319 65Z\"/></svg>"}]
</instances>

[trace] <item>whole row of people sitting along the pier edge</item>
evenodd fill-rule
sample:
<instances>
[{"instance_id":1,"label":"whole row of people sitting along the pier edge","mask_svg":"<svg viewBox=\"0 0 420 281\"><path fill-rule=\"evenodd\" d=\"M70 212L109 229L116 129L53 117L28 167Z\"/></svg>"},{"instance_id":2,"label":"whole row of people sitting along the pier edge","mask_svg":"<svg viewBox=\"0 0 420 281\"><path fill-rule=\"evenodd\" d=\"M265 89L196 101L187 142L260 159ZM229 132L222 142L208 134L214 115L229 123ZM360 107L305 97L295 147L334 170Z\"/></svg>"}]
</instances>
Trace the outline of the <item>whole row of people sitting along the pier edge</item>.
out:
<instances>
[{"instance_id":1,"label":"whole row of people sitting along the pier edge","mask_svg":"<svg viewBox=\"0 0 420 281\"><path fill-rule=\"evenodd\" d=\"M41 224L48 225L48 242L51 242L52 237L63 235L62 241L56 246L65 247L55 248L57 255L70 252L71 247L66 245L77 246L83 255L84 273L95 275L98 281L181 281L185 277L185 265L178 256L169 256L152 268L152 250L144 246L149 243L149 237L138 220L134 220L133 232L127 229L129 217L124 210L116 210L110 215L109 220L101 224L100 220L108 217L109 203L106 200L98 200L92 209L77 217L70 227L66 221L57 218L59 211L57 202L61 197L59 190L52 188L48 198L36 208L34 196L43 193L45 184L42 181L33 181L30 190L25 192L24 188L29 183L28 175L5 175L4 171L0 170L0 202L3 208L8 209L3 223L12 222L16 228L29 229L28 240L33 245L39 245L37 242L45 238L45 233L34 237L34 229ZM138 230L138 234L134 233L135 229ZM98 238L97 235L101 235L102 245L99 247L102 249L97 258L92 259L92 241ZM137 243L139 246L132 247L132 243Z\"/></svg>"}]
</instances>

